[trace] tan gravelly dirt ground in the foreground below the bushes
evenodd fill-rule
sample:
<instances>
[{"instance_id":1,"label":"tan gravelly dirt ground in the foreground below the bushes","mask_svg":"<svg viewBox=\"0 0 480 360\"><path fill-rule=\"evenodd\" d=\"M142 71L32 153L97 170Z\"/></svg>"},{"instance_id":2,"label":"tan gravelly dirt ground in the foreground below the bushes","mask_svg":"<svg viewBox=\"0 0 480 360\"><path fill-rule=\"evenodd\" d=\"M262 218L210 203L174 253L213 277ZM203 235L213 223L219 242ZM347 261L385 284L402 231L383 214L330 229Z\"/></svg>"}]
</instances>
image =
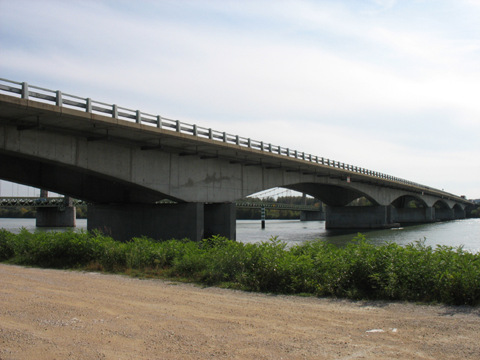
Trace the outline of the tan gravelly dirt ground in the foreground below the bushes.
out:
<instances>
[{"instance_id":1,"label":"tan gravelly dirt ground in the foreground below the bushes","mask_svg":"<svg viewBox=\"0 0 480 360\"><path fill-rule=\"evenodd\" d=\"M480 359L480 311L0 264L0 359Z\"/></svg>"}]
</instances>

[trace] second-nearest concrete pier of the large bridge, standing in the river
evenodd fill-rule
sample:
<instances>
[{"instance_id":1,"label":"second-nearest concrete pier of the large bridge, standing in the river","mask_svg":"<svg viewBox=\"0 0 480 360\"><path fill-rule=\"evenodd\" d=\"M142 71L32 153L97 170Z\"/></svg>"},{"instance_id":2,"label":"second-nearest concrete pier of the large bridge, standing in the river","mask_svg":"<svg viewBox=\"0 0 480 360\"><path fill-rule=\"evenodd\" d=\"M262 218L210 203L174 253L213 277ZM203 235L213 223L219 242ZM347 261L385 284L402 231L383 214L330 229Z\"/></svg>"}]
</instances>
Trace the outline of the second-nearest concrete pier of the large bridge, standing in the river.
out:
<instances>
[{"instance_id":1,"label":"second-nearest concrete pier of the large bridge, standing in the river","mask_svg":"<svg viewBox=\"0 0 480 360\"><path fill-rule=\"evenodd\" d=\"M390 229L400 224L391 219L390 205L338 206L326 209L325 229Z\"/></svg>"}]
</instances>

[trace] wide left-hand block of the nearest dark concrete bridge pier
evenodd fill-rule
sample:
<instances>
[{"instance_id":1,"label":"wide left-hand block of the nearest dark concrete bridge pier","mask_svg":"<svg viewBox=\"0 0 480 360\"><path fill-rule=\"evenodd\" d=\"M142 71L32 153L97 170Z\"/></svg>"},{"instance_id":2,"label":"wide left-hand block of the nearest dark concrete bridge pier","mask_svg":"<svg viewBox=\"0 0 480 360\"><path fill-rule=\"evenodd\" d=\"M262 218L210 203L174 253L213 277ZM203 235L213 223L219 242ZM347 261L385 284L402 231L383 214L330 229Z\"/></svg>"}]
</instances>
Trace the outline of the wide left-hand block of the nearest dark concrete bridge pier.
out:
<instances>
[{"instance_id":1,"label":"wide left-hand block of the nearest dark concrete bridge pier","mask_svg":"<svg viewBox=\"0 0 480 360\"><path fill-rule=\"evenodd\" d=\"M203 203L89 205L87 229L128 241L147 236L155 240L204 238Z\"/></svg>"}]
</instances>

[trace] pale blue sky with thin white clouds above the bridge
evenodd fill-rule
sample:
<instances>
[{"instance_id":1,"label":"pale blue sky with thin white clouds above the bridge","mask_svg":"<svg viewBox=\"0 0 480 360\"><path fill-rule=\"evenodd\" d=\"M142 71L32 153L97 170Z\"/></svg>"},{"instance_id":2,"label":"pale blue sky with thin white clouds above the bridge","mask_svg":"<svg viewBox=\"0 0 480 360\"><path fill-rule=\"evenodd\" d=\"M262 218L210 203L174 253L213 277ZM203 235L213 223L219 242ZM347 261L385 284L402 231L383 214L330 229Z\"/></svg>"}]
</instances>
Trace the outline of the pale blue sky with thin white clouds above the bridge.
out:
<instances>
[{"instance_id":1,"label":"pale blue sky with thin white clouds above the bridge","mask_svg":"<svg viewBox=\"0 0 480 360\"><path fill-rule=\"evenodd\" d=\"M0 77L475 199L479 19L480 0L0 0Z\"/></svg>"}]
</instances>

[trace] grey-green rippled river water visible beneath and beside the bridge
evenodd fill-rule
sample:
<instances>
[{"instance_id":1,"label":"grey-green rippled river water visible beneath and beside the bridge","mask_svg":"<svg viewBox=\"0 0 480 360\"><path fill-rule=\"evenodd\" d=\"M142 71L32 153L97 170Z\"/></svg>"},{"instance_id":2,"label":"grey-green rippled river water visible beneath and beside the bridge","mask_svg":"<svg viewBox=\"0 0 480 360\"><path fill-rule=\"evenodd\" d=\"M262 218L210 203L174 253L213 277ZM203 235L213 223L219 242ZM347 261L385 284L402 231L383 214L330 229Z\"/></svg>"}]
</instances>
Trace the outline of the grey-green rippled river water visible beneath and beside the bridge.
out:
<instances>
[{"instance_id":1,"label":"grey-green rippled river water visible beneath and beside the bridge","mask_svg":"<svg viewBox=\"0 0 480 360\"><path fill-rule=\"evenodd\" d=\"M0 228L18 233L21 227L28 231L58 231L65 228L37 228L35 219L0 219ZM77 229L86 229L86 219L77 219ZM385 241L406 245L417 240L424 240L426 245L448 245L458 247L463 245L466 250L480 250L480 219L463 219L406 226L399 229L362 231L372 243ZM267 220L266 229L261 229L260 220L237 220L237 240L244 243L259 243L268 241L271 236L294 245L304 241L322 239L335 245L345 245L356 231L326 230L325 221L299 220Z\"/></svg>"}]
</instances>

